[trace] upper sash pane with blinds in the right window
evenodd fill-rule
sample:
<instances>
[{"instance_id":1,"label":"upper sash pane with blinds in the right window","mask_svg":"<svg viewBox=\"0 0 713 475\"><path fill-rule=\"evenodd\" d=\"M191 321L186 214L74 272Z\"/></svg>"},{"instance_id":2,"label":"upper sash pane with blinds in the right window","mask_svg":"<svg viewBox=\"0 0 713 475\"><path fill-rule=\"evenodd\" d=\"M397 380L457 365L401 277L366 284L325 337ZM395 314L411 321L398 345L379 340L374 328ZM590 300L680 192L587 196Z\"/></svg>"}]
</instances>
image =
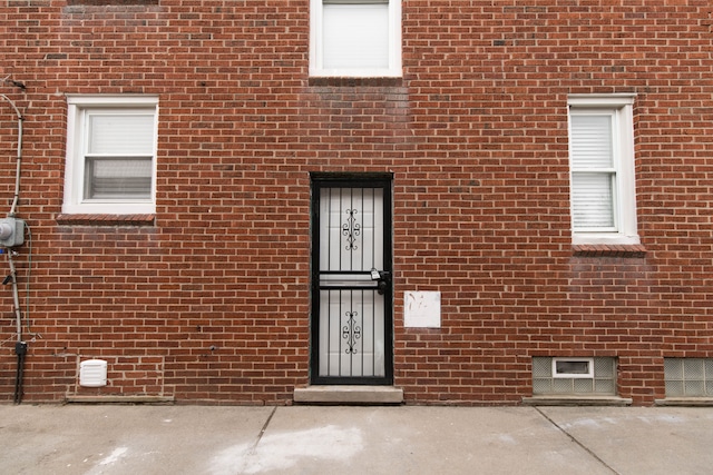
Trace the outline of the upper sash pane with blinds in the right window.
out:
<instances>
[{"instance_id":1,"label":"upper sash pane with blinds in the right window","mask_svg":"<svg viewBox=\"0 0 713 475\"><path fill-rule=\"evenodd\" d=\"M612 168L612 116L572 116L572 162L575 170Z\"/></svg>"}]
</instances>

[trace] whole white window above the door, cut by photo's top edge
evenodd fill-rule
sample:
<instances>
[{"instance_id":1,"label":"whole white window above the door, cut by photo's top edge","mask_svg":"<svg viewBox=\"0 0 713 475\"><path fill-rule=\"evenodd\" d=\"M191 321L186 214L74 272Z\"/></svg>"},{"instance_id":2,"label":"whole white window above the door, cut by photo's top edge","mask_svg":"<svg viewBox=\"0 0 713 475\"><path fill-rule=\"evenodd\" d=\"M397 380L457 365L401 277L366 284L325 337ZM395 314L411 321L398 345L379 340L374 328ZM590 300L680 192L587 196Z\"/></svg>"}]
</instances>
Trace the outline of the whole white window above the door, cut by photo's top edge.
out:
<instances>
[{"instance_id":1,"label":"whole white window above the door, cut by photo's top edge","mask_svg":"<svg viewBox=\"0 0 713 475\"><path fill-rule=\"evenodd\" d=\"M311 0L310 75L401 76L401 0Z\"/></svg>"}]
</instances>

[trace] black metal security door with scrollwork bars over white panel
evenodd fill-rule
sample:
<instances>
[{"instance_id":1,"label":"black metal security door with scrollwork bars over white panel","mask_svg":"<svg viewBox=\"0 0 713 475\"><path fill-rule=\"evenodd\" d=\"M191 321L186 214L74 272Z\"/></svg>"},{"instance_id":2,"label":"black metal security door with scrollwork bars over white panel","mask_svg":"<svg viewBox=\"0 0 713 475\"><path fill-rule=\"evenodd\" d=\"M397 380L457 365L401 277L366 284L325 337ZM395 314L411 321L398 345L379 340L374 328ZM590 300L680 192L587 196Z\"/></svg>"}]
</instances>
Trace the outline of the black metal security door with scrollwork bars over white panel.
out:
<instances>
[{"instance_id":1,"label":"black metal security door with scrollwork bars over white panel","mask_svg":"<svg viewBox=\"0 0 713 475\"><path fill-rule=\"evenodd\" d=\"M313 177L312 383L392 384L391 180Z\"/></svg>"}]
</instances>

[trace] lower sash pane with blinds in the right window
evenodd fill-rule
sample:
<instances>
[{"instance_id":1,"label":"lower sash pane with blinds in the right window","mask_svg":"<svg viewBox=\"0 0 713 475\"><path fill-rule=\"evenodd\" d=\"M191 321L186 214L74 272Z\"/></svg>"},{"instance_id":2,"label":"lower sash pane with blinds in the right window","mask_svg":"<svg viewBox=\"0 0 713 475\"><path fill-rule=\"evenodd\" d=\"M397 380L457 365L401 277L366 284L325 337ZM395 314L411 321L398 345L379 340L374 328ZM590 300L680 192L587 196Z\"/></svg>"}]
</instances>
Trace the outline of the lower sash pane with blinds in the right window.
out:
<instances>
[{"instance_id":1,"label":"lower sash pane with blinds in the right window","mask_svg":"<svg viewBox=\"0 0 713 475\"><path fill-rule=\"evenodd\" d=\"M614 227L614 176L573 174L572 205L575 229Z\"/></svg>"}]
</instances>

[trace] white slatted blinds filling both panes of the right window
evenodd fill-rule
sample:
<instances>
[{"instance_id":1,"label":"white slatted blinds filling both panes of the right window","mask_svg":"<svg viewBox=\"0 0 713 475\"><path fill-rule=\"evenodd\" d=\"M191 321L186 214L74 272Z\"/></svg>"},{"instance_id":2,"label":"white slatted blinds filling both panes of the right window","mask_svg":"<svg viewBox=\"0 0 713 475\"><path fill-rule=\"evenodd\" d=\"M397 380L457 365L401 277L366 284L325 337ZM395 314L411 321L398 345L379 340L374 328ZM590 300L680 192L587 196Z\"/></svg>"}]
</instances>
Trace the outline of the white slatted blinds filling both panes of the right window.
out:
<instances>
[{"instance_id":1,"label":"white slatted blinds filling both panes of the right window","mask_svg":"<svg viewBox=\"0 0 713 475\"><path fill-rule=\"evenodd\" d=\"M611 115L572 116L574 228L615 230L616 168Z\"/></svg>"}]
</instances>

